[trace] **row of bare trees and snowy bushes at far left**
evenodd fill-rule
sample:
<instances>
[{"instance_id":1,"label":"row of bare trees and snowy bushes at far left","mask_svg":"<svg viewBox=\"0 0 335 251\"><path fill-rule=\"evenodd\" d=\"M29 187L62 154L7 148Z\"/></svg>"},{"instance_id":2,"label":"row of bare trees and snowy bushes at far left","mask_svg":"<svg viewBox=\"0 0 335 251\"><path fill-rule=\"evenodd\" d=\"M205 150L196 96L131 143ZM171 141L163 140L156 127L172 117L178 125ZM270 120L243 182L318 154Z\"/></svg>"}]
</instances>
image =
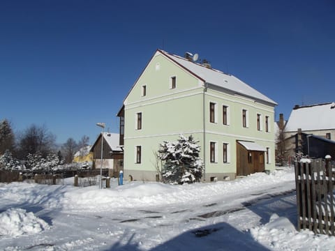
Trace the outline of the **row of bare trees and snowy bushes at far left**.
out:
<instances>
[{"instance_id":1,"label":"row of bare trees and snowy bushes at far left","mask_svg":"<svg viewBox=\"0 0 335 251\"><path fill-rule=\"evenodd\" d=\"M32 124L14 133L10 121L0 121L0 169L53 169L72 163L76 151L88 145L86 135L79 142L70 137L57 145L46 126Z\"/></svg>"}]
</instances>

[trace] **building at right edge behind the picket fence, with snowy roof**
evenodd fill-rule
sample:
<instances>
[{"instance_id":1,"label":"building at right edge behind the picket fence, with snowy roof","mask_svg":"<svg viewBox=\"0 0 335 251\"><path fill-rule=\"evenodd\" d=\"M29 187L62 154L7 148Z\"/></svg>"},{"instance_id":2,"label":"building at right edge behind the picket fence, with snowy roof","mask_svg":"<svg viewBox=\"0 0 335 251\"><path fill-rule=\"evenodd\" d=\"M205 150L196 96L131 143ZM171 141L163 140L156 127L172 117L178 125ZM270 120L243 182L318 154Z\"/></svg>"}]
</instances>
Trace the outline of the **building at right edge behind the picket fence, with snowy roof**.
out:
<instances>
[{"instance_id":1,"label":"building at right edge behind the picket fence, with snowy roof","mask_svg":"<svg viewBox=\"0 0 335 251\"><path fill-rule=\"evenodd\" d=\"M335 151L335 103L318 105L295 105L283 130L285 154L294 157L297 153L311 158L324 158Z\"/></svg>"}]
</instances>

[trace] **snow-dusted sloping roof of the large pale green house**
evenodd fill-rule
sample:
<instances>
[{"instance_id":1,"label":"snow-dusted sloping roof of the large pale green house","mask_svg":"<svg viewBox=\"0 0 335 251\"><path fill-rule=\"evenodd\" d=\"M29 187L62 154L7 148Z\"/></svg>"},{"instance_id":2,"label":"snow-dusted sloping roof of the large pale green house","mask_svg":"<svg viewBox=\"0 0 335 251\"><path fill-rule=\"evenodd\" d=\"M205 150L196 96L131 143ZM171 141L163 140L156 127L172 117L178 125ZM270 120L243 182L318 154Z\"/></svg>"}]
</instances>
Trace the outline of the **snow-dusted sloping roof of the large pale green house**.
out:
<instances>
[{"instance_id":1,"label":"snow-dusted sloping roof of the large pale green house","mask_svg":"<svg viewBox=\"0 0 335 251\"><path fill-rule=\"evenodd\" d=\"M244 83L237 77L234 77L233 75L225 74L220 70L207 68L205 66L202 66L202 64L200 63L188 61L187 59L181 56L169 54L168 52L164 52L162 50L159 50L159 52L163 53L165 56L168 56L173 61L176 61L177 63L179 63L179 65L186 68L194 75L197 75L198 77L203 79L204 82L207 82L208 84L213 84L223 89L228 89L242 96L248 96L251 98L269 102L272 105L277 105L277 103L274 102L274 100L267 98L267 96L253 89L251 86Z\"/></svg>"}]
</instances>

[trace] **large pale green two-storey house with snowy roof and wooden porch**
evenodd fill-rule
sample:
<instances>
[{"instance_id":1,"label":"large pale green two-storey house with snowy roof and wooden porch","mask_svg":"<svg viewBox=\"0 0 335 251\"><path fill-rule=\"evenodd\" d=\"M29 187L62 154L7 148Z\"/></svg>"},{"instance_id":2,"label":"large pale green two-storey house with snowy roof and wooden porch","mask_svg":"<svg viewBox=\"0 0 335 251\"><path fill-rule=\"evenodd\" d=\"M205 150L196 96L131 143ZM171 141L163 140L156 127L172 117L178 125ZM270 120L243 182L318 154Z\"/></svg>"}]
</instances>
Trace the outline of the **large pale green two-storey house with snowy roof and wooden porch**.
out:
<instances>
[{"instance_id":1,"label":"large pale green two-storey house with snowy roof and wooden porch","mask_svg":"<svg viewBox=\"0 0 335 251\"><path fill-rule=\"evenodd\" d=\"M276 102L237 77L157 50L124 99L124 176L155 181L163 141L193 135L204 181L274 170Z\"/></svg>"}]
</instances>

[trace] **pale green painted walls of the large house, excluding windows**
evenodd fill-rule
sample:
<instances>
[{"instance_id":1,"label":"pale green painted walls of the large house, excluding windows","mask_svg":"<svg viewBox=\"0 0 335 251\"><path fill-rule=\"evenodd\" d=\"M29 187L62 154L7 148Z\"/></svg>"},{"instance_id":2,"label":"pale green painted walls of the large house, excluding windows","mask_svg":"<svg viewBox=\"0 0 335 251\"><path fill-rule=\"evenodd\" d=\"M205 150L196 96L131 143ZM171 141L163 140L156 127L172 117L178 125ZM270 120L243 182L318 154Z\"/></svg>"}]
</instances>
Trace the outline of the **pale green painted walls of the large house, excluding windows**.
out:
<instances>
[{"instance_id":1,"label":"pale green painted walls of the large house, excluding windows","mask_svg":"<svg viewBox=\"0 0 335 251\"><path fill-rule=\"evenodd\" d=\"M171 77L177 78L175 89L170 88ZM144 85L146 96L142 96ZM209 102L216 103L216 123L209 122ZM158 151L158 146L163 140L175 141L179 134L186 136L192 134L195 139L200 140L207 181L210 176L218 176L218 174L234 178L236 140L253 141L269 147L271 163L266 164L265 169L274 169L274 107L211 88L204 93L203 83L197 77L160 53L156 53L137 79L124 105L125 176L132 174L136 179L154 179L156 174L154 152ZM222 123L223 105L229 107L229 126ZM248 128L242 127L242 109L248 110ZM206 114L206 144L204 144L203 135L203 111ZM136 129L138 112L142 113L141 130ZM257 114L262 114L262 131L257 130ZM265 132L265 116L269 116L269 132ZM217 142L215 163L209 161L209 142L211 141ZM228 163L223 163L223 143L229 144L228 160L230 161ZM142 146L140 164L135 164L135 146ZM151 172L151 176L144 178L147 172Z\"/></svg>"}]
</instances>

